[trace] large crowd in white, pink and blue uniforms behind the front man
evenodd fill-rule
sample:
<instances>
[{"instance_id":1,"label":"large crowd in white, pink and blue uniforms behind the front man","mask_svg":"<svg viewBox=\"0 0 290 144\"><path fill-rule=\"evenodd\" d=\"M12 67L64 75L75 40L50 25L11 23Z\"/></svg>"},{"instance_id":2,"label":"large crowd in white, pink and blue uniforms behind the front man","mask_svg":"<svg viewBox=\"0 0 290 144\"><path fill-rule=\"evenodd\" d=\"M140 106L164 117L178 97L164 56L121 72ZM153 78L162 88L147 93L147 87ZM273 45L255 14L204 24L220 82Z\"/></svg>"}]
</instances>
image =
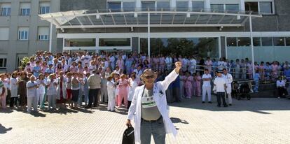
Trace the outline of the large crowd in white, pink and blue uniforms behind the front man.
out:
<instances>
[{"instance_id":1,"label":"large crowd in white, pink and blue uniforms behind the front man","mask_svg":"<svg viewBox=\"0 0 290 144\"><path fill-rule=\"evenodd\" d=\"M99 103L108 103L109 111L122 106L129 108L134 89L143 84L141 73L152 69L156 71L156 81L161 81L174 69L174 62L182 62L182 68L166 91L168 103L191 99L192 96L202 96L202 103L205 103L206 94L207 101L212 103L213 90L218 101L223 100L223 106L231 106L233 78L254 79L255 92L258 92L259 80L277 80L282 75L290 78L288 62L254 62L253 72L253 65L247 58L234 62L225 58L217 61L210 57L181 55L153 55L149 58L145 53L136 52L89 54L83 51L53 55L38 51L23 69L0 74L1 108L6 108L6 102L10 108L27 106L28 113L32 108L35 111L44 108L56 110L65 108L67 104L69 108L92 108ZM284 87L283 82L279 82L279 87ZM222 96L222 92L227 96ZM221 106L220 102L218 106Z\"/></svg>"}]
</instances>

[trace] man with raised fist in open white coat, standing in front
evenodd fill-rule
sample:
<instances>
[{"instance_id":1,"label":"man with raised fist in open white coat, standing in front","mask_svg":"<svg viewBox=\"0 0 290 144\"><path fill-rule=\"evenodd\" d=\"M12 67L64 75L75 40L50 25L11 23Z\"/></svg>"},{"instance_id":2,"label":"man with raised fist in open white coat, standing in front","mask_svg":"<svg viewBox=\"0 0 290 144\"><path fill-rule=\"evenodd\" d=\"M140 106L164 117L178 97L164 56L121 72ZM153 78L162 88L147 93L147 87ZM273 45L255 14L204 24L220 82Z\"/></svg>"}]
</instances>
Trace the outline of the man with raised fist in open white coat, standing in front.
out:
<instances>
[{"instance_id":1,"label":"man with raised fist in open white coat, standing in front","mask_svg":"<svg viewBox=\"0 0 290 144\"><path fill-rule=\"evenodd\" d=\"M168 114L165 91L179 75L181 65L181 62L176 62L176 68L165 80L156 83L157 75L151 69L142 73L141 79L145 85L136 88L126 122L131 127L134 117L135 143L150 144L153 135L155 143L163 144L166 134L177 136L177 130Z\"/></svg>"}]
</instances>

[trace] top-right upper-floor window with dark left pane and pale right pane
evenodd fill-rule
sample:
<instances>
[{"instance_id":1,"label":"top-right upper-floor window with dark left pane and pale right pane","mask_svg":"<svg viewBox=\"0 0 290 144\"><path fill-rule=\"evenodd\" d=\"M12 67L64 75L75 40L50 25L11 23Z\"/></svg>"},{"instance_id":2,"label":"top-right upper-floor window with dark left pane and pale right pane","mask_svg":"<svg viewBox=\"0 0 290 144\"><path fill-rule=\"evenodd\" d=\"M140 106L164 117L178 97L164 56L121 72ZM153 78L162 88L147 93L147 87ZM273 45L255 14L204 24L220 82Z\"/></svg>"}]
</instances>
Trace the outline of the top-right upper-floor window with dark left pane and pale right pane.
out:
<instances>
[{"instance_id":1,"label":"top-right upper-floor window with dark left pane and pale right pane","mask_svg":"<svg viewBox=\"0 0 290 144\"><path fill-rule=\"evenodd\" d=\"M247 1L244 3L245 10L261 14L273 14L271 1Z\"/></svg>"}]
</instances>

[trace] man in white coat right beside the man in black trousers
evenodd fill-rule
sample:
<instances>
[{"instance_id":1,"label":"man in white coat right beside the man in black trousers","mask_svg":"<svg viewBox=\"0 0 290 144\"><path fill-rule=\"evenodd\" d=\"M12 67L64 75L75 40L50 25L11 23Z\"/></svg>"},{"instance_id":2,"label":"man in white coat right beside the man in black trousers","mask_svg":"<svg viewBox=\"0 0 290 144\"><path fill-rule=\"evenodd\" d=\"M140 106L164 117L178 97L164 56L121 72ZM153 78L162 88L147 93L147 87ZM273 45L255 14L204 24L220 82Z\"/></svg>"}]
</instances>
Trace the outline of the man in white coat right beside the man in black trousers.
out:
<instances>
[{"instance_id":1,"label":"man in white coat right beside the man in black trousers","mask_svg":"<svg viewBox=\"0 0 290 144\"><path fill-rule=\"evenodd\" d=\"M227 94L227 101L228 105L232 106L232 82L233 82L233 76L228 73L226 69L223 69L223 78L226 80L226 94Z\"/></svg>"}]
</instances>

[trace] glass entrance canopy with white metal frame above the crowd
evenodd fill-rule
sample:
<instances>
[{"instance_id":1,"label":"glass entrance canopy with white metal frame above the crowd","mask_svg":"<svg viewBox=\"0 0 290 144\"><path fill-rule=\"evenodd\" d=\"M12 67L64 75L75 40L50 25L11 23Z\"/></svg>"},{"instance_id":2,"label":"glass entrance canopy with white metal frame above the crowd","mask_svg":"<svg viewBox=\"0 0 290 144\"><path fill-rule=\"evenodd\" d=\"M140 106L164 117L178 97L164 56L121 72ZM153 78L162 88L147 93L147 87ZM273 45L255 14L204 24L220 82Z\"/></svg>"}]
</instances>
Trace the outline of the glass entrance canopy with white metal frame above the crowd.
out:
<instances>
[{"instance_id":1,"label":"glass entrance canopy with white metal frame above the crowd","mask_svg":"<svg viewBox=\"0 0 290 144\"><path fill-rule=\"evenodd\" d=\"M135 8L107 10L73 10L39 15L59 29L104 27L242 27L251 11Z\"/></svg>"}]
</instances>

